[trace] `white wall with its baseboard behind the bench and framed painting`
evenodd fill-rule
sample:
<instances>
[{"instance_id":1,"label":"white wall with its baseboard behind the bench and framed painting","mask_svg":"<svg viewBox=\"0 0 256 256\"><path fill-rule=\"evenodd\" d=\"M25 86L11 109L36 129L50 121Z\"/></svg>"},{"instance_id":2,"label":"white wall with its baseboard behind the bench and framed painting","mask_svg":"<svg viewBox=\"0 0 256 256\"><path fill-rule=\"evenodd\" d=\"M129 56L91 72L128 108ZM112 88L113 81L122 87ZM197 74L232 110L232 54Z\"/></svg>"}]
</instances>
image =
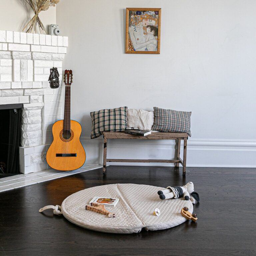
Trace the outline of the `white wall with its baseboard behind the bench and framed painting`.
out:
<instances>
[{"instance_id":1,"label":"white wall with its baseboard behind the bench and framed painting","mask_svg":"<svg viewBox=\"0 0 256 256\"><path fill-rule=\"evenodd\" d=\"M124 54L126 7L162 8L160 55ZM256 166L255 13L254 0L62 0L63 69L73 70L71 116L88 162L102 154L101 140L88 139L90 111L157 106L192 111L188 166ZM110 157L163 158L173 148L128 144L112 142Z\"/></svg>"}]
</instances>

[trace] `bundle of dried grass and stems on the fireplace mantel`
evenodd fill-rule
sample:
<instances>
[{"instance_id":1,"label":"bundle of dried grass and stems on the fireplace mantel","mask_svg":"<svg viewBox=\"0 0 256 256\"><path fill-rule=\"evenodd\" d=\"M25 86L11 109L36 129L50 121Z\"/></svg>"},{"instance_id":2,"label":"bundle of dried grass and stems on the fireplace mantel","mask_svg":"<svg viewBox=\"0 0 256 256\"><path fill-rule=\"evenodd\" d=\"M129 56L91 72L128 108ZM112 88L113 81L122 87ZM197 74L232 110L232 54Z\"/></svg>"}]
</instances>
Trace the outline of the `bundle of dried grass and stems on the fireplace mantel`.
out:
<instances>
[{"instance_id":1,"label":"bundle of dried grass and stems on the fireplace mantel","mask_svg":"<svg viewBox=\"0 0 256 256\"><path fill-rule=\"evenodd\" d=\"M60 0L25 0L35 13L34 17L29 23L23 28L22 31L26 30L26 33L36 33L36 27L38 26L41 34L47 34L46 29L41 22L38 14L41 11L47 11L49 7L54 7L59 3Z\"/></svg>"}]
</instances>

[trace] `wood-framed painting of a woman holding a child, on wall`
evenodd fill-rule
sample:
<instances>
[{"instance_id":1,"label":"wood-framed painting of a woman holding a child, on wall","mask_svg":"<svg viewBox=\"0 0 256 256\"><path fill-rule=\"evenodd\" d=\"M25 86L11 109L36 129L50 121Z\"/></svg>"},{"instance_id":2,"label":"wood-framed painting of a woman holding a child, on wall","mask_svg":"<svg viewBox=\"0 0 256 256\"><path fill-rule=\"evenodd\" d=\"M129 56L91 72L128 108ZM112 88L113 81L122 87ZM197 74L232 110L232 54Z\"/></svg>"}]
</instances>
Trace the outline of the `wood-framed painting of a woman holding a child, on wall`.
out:
<instances>
[{"instance_id":1,"label":"wood-framed painting of a woman holding a child, on wall","mask_svg":"<svg viewBox=\"0 0 256 256\"><path fill-rule=\"evenodd\" d=\"M161 8L126 8L125 53L160 53Z\"/></svg>"}]
</instances>

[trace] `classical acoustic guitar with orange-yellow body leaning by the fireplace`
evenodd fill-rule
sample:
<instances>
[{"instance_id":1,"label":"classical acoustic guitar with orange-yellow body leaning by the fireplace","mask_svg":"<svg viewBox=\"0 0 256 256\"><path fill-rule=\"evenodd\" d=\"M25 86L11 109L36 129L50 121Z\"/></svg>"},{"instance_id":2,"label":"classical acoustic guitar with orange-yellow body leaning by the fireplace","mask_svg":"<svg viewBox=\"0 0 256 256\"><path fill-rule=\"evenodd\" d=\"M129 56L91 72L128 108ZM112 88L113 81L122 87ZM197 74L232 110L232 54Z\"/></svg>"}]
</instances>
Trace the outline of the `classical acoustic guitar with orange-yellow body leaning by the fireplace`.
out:
<instances>
[{"instance_id":1,"label":"classical acoustic guitar with orange-yellow body leaning by the fireplace","mask_svg":"<svg viewBox=\"0 0 256 256\"><path fill-rule=\"evenodd\" d=\"M65 107L64 120L52 126L53 142L46 154L48 165L56 170L71 171L80 168L85 162L85 151L80 142L81 125L70 120L70 89L72 70L65 70Z\"/></svg>"}]
</instances>

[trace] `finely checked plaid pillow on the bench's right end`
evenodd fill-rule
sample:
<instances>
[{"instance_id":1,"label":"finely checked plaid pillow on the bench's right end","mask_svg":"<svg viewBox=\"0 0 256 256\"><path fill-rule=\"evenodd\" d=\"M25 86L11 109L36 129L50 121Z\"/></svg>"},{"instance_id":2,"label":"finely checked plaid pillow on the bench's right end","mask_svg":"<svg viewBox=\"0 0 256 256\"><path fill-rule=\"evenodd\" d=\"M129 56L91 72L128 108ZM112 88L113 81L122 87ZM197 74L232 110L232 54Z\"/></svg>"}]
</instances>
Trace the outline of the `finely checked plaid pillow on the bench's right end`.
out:
<instances>
[{"instance_id":1,"label":"finely checked plaid pillow on the bench's right end","mask_svg":"<svg viewBox=\"0 0 256 256\"><path fill-rule=\"evenodd\" d=\"M159 132L190 132L191 112L176 111L154 107L154 125L152 130Z\"/></svg>"}]
</instances>

